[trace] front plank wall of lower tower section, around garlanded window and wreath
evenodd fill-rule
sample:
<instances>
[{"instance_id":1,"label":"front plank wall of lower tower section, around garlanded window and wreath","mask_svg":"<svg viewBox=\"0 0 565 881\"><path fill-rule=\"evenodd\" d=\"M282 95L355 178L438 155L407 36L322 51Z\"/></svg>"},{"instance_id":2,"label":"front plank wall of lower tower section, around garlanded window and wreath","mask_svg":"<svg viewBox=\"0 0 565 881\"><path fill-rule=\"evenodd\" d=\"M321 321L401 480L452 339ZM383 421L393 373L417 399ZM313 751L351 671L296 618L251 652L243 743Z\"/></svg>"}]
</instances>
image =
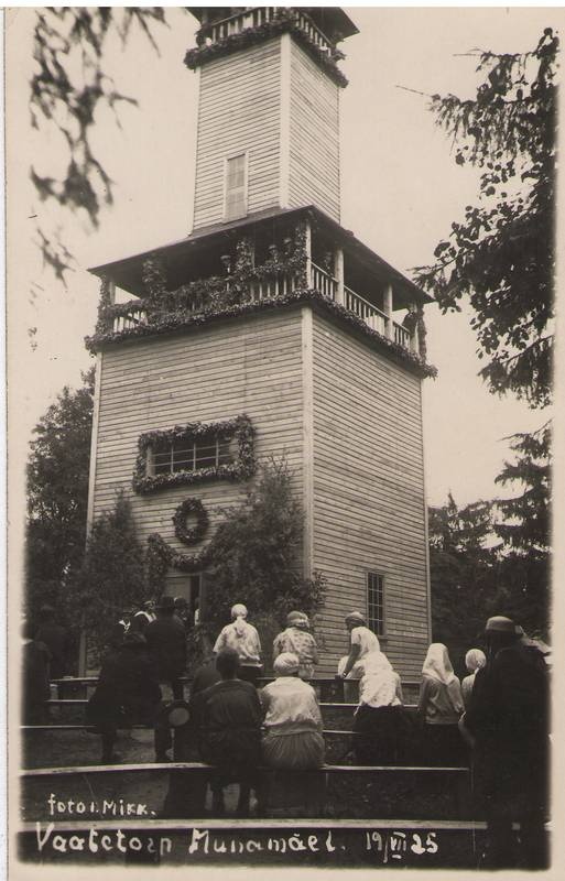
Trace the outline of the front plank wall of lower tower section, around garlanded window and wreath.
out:
<instances>
[{"instance_id":1,"label":"front plank wall of lower tower section, around garlanded window and wreath","mask_svg":"<svg viewBox=\"0 0 565 881\"><path fill-rule=\"evenodd\" d=\"M109 348L101 377L95 516L110 509L123 488L142 542L159 532L178 552L198 552L202 544L187 547L174 536L171 519L176 507L186 498L203 500L210 520L206 543L219 509L240 502L247 485L222 480L138 496L131 489L138 438L152 428L240 413L247 413L257 429L258 457L284 453L296 492L302 493L298 311ZM173 580L181 577L174 570L170 575Z\"/></svg>"}]
</instances>

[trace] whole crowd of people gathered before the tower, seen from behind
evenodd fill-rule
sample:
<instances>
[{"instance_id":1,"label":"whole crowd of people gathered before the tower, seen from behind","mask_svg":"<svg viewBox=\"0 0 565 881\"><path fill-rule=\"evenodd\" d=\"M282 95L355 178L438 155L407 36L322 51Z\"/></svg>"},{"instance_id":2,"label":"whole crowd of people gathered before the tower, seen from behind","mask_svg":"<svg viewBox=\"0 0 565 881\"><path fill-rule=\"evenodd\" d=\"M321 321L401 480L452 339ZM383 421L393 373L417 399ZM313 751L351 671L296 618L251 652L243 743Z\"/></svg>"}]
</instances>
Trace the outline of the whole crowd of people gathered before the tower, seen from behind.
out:
<instances>
[{"instance_id":1,"label":"whole crowd of people gathered before the tower, seen from behind","mask_svg":"<svg viewBox=\"0 0 565 881\"><path fill-rule=\"evenodd\" d=\"M104 763L116 761L117 731L132 721L154 727L155 758L170 761L171 731L161 686L183 701L186 673L185 602L163 597L124 614L111 635L88 721L101 735ZM50 612L41 634L61 656L62 634ZM218 634L193 671L191 730L199 757L215 766L213 811L224 812L224 790L240 784L238 813L249 812L251 790L260 798L258 769L304 771L325 762L322 714L313 686L318 648L305 613L292 611L273 643L274 678L262 688L262 646L245 605ZM189 626L194 624L194 619ZM432 643L422 667L416 719L406 714L402 684L378 637L360 612L345 619L348 653L336 678L355 704L352 758L357 764L394 765L412 758L426 765L472 769L474 790L488 820L492 868L512 864L512 822L528 868L544 864L548 737L547 665L543 654L510 619L490 618L485 651L470 649L468 675L455 675L448 649ZM121 633L119 632L121 628ZM33 642L33 640L30 640ZM57 655L57 652L59 653ZM30 660L33 661L33 652ZM48 687L48 685L47 685Z\"/></svg>"}]
</instances>

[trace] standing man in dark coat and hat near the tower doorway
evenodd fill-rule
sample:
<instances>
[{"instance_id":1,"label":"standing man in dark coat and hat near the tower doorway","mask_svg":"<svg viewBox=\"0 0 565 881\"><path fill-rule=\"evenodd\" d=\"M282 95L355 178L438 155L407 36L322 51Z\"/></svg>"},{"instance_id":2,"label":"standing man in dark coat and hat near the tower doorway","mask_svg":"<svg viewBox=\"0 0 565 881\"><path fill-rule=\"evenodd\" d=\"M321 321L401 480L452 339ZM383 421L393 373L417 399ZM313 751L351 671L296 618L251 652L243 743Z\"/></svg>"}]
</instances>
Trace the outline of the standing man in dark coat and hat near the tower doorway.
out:
<instances>
[{"instance_id":1,"label":"standing man in dark coat and hat near the tower doorway","mask_svg":"<svg viewBox=\"0 0 565 881\"><path fill-rule=\"evenodd\" d=\"M182 700L180 677L186 671L186 633L174 610L173 597L162 597L155 607L156 620L145 629L145 639L156 664L159 681L169 683L175 700Z\"/></svg>"}]
</instances>

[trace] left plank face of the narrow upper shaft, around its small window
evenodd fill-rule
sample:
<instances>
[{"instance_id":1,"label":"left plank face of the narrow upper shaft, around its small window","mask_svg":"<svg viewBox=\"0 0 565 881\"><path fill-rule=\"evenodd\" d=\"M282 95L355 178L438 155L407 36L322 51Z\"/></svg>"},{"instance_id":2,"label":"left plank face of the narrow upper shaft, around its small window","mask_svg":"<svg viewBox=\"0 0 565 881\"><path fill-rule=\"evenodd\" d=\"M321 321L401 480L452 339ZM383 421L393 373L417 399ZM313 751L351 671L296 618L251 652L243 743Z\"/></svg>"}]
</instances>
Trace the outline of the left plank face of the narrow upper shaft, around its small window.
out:
<instances>
[{"instance_id":1,"label":"left plank face of the narrow upper shaft, around its small window","mask_svg":"<svg viewBox=\"0 0 565 881\"><path fill-rule=\"evenodd\" d=\"M275 37L203 66L194 228L224 218L224 163L248 151L248 213L279 205L280 54Z\"/></svg>"}]
</instances>

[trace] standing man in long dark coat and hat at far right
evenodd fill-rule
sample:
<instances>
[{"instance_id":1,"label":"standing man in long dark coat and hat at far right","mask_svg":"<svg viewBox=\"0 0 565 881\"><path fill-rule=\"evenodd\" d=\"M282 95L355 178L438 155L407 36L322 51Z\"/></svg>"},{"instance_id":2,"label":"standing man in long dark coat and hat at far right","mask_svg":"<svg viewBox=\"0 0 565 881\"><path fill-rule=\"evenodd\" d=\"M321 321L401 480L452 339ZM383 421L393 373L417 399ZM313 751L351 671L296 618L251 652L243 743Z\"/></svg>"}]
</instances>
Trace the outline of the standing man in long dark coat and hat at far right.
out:
<instances>
[{"instance_id":1,"label":"standing man in long dark coat and hat at far right","mask_svg":"<svg viewBox=\"0 0 565 881\"><path fill-rule=\"evenodd\" d=\"M542 653L510 618L489 618L487 664L463 725L475 739L474 783L487 817L486 868L543 869L547 798L548 675ZM512 823L520 824L519 844Z\"/></svg>"}]
</instances>

